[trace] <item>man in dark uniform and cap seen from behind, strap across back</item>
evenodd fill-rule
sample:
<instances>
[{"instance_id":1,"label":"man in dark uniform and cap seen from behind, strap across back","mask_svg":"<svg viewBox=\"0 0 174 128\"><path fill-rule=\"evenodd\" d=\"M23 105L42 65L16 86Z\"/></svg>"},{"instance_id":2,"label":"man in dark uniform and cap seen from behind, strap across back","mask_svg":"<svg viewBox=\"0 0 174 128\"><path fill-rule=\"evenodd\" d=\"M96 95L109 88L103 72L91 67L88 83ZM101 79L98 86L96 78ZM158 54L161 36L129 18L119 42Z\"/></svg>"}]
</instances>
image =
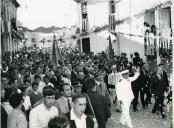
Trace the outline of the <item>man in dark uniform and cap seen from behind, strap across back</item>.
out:
<instances>
[{"instance_id":1,"label":"man in dark uniform and cap seen from behind, strap across back","mask_svg":"<svg viewBox=\"0 0 174 128\"><path fill-rule=\"evenodd\" d=\"M106 128L106 120L111 116L107 99L97 93L97 85L94 78L87 78L85 85L87 87L85 113L96 118L99 128Z\"/></svg>"}]
</instances>

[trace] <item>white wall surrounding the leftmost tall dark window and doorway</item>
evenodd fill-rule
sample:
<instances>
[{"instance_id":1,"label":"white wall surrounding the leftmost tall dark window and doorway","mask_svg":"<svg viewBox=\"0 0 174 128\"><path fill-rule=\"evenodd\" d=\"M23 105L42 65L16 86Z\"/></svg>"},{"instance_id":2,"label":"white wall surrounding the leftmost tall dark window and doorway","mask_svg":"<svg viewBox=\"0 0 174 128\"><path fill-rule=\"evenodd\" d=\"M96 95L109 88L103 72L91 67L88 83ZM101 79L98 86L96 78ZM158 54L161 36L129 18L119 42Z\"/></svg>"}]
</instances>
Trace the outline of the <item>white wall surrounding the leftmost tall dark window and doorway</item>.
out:
<instances>
[{"instance_id":1,"label":"white wall surrounding the leftmost tall dark window and doorway","mask_svg":"<svg viewBox=\"0 0 174 128\"><path fill-rule=\"evenodd\" d=\"M77 13L79 14L78 18L78 27L80 32L82 32L82 14L81 14L81 5L79 3L77 7ZM102 13L102 14L101 14ZM102 27L109 24L109 2L98 2L98 3L87 3L87 17L88 17L88 29L87 32L93 30L96 27ZM81 37L78 47L80 51L82 50L82 38L90 38L90 51L97 54L102 51L106 51L108 47L108 34L89 34L88 36ZM81 51L82 52L82 51Z\"/></svg>"}]
</instances>

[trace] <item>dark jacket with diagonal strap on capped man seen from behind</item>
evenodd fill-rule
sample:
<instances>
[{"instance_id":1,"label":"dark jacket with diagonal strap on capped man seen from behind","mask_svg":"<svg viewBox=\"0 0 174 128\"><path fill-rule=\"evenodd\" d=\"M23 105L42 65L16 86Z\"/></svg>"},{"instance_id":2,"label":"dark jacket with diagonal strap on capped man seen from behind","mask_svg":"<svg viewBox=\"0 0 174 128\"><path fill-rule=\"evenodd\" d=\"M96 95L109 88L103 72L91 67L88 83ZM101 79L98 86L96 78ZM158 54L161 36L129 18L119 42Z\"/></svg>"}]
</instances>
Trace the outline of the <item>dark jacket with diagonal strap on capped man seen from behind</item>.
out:
<instances>
[{"instance_id":1,"label":"dark jacket with diagonal strap on capped man seen from behind","mask_svg":"<svg viewBox=\"0 0 174 128\"><path fill-rule=\"evenodd\" d=\"M109 104L107 104L106 98L93 91L87 92L87 95L91 101L99 128L106 128L106 120L111 116ZM94 116L88 99L85 113Z\"/></svg>"}]
</instances>

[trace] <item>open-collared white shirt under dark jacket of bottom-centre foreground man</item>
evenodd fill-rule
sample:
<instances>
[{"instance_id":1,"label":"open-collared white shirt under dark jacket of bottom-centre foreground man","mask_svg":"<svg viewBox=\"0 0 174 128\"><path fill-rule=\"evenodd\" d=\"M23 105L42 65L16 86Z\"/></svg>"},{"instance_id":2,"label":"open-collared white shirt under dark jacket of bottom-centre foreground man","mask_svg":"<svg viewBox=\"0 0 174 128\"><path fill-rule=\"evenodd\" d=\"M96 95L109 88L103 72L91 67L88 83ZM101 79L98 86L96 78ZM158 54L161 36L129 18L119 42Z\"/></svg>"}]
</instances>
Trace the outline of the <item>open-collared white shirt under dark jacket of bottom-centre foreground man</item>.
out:
<instances>
[{"instance_id":1,"label":"open-collared white shirt under dark jacket of bottom-centre foreground man","mask_svg":"<svg viewBox=\"0 0 174 128\"><path fill-rule=\"evenodd\" d=\"M74 120L76 123L76 128L86 128L86 115L85 114L83 114L81 116L81 119L79 119L75 115L74 110L71 109L70 115L71 115L71 120Z\"/></svg>"}]
</instances>

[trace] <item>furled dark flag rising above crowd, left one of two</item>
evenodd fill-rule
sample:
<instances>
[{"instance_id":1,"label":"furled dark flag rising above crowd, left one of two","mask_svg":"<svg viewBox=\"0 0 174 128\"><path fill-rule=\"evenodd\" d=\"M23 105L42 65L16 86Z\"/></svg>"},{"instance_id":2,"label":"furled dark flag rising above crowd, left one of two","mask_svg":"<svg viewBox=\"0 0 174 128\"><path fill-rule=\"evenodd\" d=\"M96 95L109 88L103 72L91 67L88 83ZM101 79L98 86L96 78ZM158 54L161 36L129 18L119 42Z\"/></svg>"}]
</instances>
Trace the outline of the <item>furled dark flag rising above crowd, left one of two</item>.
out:
<instances>
[{"instance_id":1,"label":"furled dark flag rising above crowd, left one of two","mask_svg":"<svg viewBox=\"0 0 174 128\"><path fill-rule=\"evenodd\" d=\"M62 60L62 55L60 49L57 44L56 36L53 37L53 45L52 45L52 52L51 52L51 64L58 65L58 61Z\"/></svg>"}]
</instances>

